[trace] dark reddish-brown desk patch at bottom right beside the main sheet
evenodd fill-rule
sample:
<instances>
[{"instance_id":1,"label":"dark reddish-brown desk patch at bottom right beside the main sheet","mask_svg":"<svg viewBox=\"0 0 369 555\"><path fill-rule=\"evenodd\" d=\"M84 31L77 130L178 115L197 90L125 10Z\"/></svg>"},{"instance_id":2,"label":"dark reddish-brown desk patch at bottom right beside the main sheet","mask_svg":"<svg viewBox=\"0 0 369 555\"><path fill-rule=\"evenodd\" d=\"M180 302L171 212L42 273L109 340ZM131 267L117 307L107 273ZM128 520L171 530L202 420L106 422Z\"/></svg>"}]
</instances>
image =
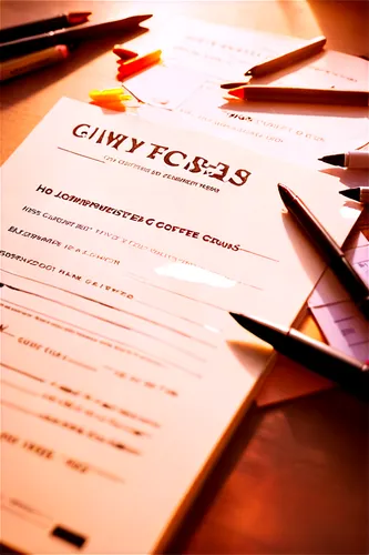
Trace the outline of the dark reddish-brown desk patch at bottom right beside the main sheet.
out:
<instances>
[{"instance_id":1,"label":"dark reddish-brown desk patch at bottom right beside the main sheet","mask_svg":"<svg viewBox=\"0 0 369 555\"><path fill-rule=\"evenodd\" d=\"M368 554L368 441L339 390L253 408L166 553Z\"/></svg>"}]
</instances>

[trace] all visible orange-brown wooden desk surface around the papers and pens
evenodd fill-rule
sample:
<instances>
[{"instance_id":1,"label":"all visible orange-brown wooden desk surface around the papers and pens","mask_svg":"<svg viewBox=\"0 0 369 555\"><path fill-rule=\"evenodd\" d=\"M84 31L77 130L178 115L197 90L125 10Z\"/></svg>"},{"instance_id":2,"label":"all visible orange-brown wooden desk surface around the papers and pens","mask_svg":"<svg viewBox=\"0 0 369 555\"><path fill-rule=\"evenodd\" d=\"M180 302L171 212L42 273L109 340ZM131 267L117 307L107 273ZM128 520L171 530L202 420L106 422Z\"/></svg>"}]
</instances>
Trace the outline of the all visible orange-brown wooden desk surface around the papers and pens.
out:
<instances>
[{"instance_id":1,"label":"all visible orange-brown wooden desk surface around the papers and pens","mask_svg":"<svg viewBox=\"0 0 369 555\"><path fill-rule=\"evenodd\" d=\"M68 10L110 19L127 10L173 13L311 38L369 56L363 1L4 1L7 27ZM1 87L1 162L61 95L88 100L114 84L111 39L65 64ZM253 410L206 482L168 553L368 554L369 406L339 390ZM0 546L1 553L7 553Z\"/></svg>"}]
</instances>

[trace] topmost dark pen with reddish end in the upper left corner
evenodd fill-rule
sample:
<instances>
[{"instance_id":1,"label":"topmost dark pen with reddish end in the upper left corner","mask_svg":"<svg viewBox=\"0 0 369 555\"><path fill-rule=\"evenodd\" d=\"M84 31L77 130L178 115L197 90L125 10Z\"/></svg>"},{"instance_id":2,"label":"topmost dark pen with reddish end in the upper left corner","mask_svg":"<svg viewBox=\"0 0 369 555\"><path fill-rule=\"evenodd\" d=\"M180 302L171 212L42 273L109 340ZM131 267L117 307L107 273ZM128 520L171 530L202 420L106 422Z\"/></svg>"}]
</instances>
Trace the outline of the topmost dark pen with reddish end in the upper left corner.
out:
<instances>
[{"instance_id":1,"label":"topmost dark pen with reddish end in the upper left corner","mask_svg":"<svg viewBox=\"0 0 369 555\"><path fill-rule=\"evenodd\" d=\"M24 37L45 33L55 29L79 26L85 23L91 16L91 11L71 11L54 18L40 19L21 26L7 27L0 30L0 42L9 42Z\"/></svg>"}]
</instances>

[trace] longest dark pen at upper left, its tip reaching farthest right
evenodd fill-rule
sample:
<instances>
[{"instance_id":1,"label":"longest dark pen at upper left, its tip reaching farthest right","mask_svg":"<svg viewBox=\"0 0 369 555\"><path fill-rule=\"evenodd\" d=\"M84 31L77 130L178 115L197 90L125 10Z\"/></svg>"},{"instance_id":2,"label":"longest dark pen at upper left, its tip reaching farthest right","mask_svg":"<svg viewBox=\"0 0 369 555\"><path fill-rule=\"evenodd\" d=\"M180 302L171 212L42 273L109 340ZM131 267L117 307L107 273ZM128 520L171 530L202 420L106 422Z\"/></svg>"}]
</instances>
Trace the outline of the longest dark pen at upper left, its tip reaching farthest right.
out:
<instances>
[{"instance_id":1,"label":"longest dark pen at upper left, its tip reaching farthest right","mask_svg":"<svg viewBox=\"0 0 369 555\"><path fill-rule=\"evenodd\" d=\"M0 60L24 56L35 50L42 50L57 44L74 44L82 40L109 37L110 33L113 32L130 31L151 17L152 14L131 16L113 21L84 23L78 27L58 29L57 31L37 34L34 37L25 37L11 42L1 42Z\"/></svg>"}]
</instances>

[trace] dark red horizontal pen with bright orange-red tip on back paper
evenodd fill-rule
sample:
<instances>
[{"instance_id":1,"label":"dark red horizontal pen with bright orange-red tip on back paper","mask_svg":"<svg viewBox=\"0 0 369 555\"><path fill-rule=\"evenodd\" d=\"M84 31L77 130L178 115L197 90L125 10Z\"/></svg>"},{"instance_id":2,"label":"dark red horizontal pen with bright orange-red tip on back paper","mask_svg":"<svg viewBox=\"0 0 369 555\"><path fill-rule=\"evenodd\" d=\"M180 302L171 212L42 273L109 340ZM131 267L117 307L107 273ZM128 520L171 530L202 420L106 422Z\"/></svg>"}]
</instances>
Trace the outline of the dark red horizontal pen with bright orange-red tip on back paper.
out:
<instances>
[{"instance_id":1,"label":"dark red horizontal pen with bright orange-red tip on back paper","mask_svg":"<svg viewBox=\"0 0 369 555\"><path fill-rule=\"evenodd\" d=\"M299 87L270 87L268 84L247 84L233 89L229 94L253 102L299 102L304 104L369 104L368 91L339 89L304 89Z\"/></svg>"}]
</instances>

